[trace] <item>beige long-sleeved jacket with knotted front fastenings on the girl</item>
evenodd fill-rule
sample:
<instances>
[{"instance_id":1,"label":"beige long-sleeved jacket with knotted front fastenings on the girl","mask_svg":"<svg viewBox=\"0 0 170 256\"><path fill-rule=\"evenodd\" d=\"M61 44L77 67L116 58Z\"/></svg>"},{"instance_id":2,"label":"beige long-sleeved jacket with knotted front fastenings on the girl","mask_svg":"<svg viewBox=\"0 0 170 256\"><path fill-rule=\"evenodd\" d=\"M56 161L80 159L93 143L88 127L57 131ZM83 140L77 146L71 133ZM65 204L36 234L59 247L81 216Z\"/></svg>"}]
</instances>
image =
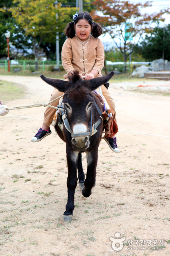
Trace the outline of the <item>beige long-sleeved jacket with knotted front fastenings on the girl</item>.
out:
<instances>
[{"instance_id":1,"label":"beige long-sleeved jacket with knotted front fastenings on the girl","mask_svg":"<svg viewBox=\"0 0 170 256\"><path fill-rule=\"evenodd\" d=\"M83 76L96 69L98 71L96 77L100 77L104 66L103 42L91 35L84 42L77 35L67 38L62 47L62 65L67 72L64 75L65 79L70 71L76 69Z\"/></svg>"}]
</instances>

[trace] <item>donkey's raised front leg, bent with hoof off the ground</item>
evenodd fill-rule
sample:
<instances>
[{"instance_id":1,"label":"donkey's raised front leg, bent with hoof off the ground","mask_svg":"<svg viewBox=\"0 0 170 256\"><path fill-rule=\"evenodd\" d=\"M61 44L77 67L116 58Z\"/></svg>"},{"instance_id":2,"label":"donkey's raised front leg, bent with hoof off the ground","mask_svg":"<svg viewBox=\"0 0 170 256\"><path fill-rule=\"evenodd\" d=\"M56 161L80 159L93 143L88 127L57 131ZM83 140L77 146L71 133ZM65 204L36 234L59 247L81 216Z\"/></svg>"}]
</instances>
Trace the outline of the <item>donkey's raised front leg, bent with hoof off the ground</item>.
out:
<instances>
[{"instance_id":1,"label":"donkey's raised front leg, bent with hoof off the ground","mask_svg":"<svg viewBox=\"0 0 170 256\"><path fill-rule=\"evenodd\" d=\"M86 152L87 157L87 174L86 179L84 181L84 189L82 189L82 195L85 197L89 197L92 194L92 188L95 186L96 182L96 166L97 166L97 158L98 152L97 149L93 149L91 152Z\"/></svg>"}]
</instances>

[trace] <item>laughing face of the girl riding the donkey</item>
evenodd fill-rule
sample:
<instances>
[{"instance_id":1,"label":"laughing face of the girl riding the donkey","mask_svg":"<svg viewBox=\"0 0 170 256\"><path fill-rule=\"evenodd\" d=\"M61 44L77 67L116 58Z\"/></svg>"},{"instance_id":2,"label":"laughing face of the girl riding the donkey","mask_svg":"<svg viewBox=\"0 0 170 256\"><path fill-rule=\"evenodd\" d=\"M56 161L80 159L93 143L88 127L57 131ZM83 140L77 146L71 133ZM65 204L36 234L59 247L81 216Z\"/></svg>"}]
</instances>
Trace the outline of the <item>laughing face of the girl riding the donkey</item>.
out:
<instances>
[{"instance_id":1,"label":"laughing face of the girl riding the donkey","mask_svg":"<svg viewBox=\"0 0 170 256\"><path fill-rule=\"evenodd\" d=\"M91 26L86 19L80 19L75 26L76 34L78 38L82 41L89 37L91 32Z\"/></svg>"}]
</instances>

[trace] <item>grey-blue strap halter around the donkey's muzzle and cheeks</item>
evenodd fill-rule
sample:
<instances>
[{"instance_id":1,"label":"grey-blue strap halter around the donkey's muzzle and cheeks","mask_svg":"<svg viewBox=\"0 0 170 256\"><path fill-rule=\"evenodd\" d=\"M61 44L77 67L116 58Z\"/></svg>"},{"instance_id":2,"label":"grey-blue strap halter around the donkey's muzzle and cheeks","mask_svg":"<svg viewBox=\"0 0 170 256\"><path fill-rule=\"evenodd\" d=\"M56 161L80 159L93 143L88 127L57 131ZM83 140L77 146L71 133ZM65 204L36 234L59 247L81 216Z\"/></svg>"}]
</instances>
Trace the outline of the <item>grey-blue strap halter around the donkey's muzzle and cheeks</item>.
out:
<instances>
[{"instance_id":1,"label":"grey-blue strap halter around the donkey's muzzle and cheeks","mask_svg":"<svg viewBox=\"0 0 170 256\"><path fill-rule=\"evenodd\" d=\"M85 132L85 133L73 133L71 128L70 128L70 124L69 124L69 121L67 119L67 114L66 114L66 109L65 107L63 107L62 105L59 106L59 110L61 112L61 115L62 115L62 120L63 120L63 123L64 123L64 126L66 127L67 131L70 132L72 138L76 138L76 137L87 137L87 136L92 136L94 135L95 133L97 133L97 130L96 128L100 125L100 123L102 122L102 120L104 119L104 116L100 110L100 108L98 107L98 105L96 104L96 102L94 102L96 108L97 108L97 111L98 111L98 114L100 115L100 118L97 120L96 123L92 124L93 122L93 111L92 111L92 108L91 108L91 118L90 118L90 131L88 132ZM62 121L58 115L58 119L59 119L59 123L60 125L62 125Z\"/></svg>"}]
</instances>

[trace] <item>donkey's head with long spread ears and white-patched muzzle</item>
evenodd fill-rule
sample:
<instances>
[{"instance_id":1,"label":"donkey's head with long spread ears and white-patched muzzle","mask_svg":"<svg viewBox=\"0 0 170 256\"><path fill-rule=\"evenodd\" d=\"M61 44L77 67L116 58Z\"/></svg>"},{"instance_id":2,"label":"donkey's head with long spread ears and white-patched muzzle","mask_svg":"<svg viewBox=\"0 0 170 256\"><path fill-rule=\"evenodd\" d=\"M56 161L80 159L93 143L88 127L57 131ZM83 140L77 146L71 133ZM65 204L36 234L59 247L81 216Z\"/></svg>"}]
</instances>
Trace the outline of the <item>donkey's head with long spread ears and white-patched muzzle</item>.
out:
<instances>
[{"instance_id":1,"label":"donkey's head with long spread ears and white-patched muzzle","mask_svg":"<svg viewBox=\"0 0 170 256\"><path fill-rule=\"evenodd\" d=\"M83 150L89 147L90 127L97 121L96 119L99 116L92 116L96 108L92 90L107 83L113 75L114 72L112 71L103 77L83 80L78 75L78 72L74 71L74 74L69 77L69 81L46 78L43 75L40 76L47 84L65 93L63 104L70 129L73 133L72 144L76 145L77 148Z\"/></svg>"}]
</instances>

